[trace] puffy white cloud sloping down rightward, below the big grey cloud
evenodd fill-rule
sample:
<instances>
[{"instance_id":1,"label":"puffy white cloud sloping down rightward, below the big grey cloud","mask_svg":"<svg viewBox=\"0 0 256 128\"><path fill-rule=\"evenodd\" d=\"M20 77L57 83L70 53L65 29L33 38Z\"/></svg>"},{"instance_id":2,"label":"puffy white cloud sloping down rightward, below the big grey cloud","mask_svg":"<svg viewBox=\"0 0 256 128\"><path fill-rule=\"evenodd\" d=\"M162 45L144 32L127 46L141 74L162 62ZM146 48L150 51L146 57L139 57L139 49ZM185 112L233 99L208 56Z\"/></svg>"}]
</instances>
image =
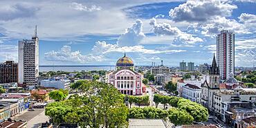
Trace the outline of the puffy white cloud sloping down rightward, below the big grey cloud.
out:
<instances>
[{"instance_id":1,"label":"puffy white cloud sloping down rightward, below the big grey cloud","mask_svg":"<svg viewBox=\"0 0 256 128\"><path fill-rule=\"evenodd\" d=\"M183 33L179 28L173 27L167 23L157 23L155 18L152 18L149 23L153 27L153 31L156 35L173 35L174 44L194 44L196 42L203 42L203 39L199 37L193 37L188 33Z\"/></svg>"}]
</instances>

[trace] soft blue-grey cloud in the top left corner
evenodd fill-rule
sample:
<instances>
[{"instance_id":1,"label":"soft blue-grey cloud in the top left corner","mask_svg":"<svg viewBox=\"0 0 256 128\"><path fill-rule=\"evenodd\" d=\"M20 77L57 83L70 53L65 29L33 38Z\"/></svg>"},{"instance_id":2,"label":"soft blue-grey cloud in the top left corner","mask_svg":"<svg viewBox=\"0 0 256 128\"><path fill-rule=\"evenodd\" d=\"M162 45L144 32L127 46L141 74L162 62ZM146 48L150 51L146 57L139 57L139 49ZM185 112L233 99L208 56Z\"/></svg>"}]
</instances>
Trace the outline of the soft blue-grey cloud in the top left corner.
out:
<instances>
[{"instance_id":1,"label":"soft blue-grey cloud in the top left corner","mask_svg":"<svg viewBox=\"0 0 256 128\"><path fill-rule=\"evenodd\" d=\"M12 19L19 19L25 17L33 17L39 10L37 7L31 7L24 3L17 3L15 5L1 6L0 20L8 21Z\"/></svg>"}]
</instances>

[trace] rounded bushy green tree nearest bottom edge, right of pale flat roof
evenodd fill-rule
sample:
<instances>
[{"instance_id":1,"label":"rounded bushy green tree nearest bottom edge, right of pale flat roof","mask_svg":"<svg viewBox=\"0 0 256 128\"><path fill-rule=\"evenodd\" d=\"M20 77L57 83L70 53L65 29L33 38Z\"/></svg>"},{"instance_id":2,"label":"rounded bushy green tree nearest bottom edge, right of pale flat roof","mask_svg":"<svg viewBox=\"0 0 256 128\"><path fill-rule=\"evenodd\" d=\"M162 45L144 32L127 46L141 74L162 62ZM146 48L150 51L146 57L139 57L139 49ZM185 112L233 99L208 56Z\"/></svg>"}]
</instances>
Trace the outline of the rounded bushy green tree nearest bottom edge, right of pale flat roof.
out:
<instances>
[{"instance_id":1,"label":"rounded bushy green tree nearest bottom edge, right of pale flat roof","mask_svg":"<svg viewBox=\"0 0 256 128\"><path fill-rule=\"evenodd\" d=\"M168 118L174 125L191 125L194 121L194 118L187 111L171 108L168 113Z\"/></svg>"}]
</instances>

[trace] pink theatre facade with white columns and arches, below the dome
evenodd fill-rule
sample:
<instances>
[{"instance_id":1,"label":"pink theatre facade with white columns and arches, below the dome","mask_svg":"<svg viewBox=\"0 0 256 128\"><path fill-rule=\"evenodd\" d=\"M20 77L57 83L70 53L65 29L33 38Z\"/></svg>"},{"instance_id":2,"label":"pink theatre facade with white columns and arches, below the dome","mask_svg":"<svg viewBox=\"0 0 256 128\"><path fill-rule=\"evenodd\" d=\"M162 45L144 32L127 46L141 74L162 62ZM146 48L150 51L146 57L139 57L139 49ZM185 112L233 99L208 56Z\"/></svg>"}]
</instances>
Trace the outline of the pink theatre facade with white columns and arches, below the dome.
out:
<instances>
[{"instance_id":1,"label":"pink theatre facade with white columns and arches, below the dome","mask_svg":"<svg viewBox=\"0 0 256 128\"><path fill-rule=\"evenodd\" d=\"M113 86L122 94L142 95L143 94L143 75L131 71L131 69L120 69L107 75L107 83Z\"/></svg>"}]
</instances>

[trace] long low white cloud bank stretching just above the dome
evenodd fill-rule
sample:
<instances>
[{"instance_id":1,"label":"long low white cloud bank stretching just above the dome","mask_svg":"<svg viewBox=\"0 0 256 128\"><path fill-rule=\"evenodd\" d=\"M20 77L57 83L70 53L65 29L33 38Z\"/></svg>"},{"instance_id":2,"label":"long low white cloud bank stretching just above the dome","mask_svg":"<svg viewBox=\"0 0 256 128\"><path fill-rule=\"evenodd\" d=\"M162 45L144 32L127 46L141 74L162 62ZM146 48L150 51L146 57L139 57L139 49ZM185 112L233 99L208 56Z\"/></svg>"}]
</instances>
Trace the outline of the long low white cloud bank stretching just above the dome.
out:
<instances>
[{"instance_id":1,"label":"long low white cloud bank stretching just above the dome","mask_svg":"<svg viewBox=\"0 0 256 128\"><path fill-rule=\"evenodd\" d=\"M102 62L106 60L106 55L111 55L112 53L142 53L147 55L154 54L170 54L170 53L181 53L185 50L166 50L157 51L154 49L147 49L144 46L123 46L120 47L116 44L107 44L107 42L95 42L91 53L87 55L82 55L80 51L71 51L71 46L63 46L60 51L50 51L44 53L44 58L48 61L59 61L59 62Z\"/></svg>"}]
</instances>

